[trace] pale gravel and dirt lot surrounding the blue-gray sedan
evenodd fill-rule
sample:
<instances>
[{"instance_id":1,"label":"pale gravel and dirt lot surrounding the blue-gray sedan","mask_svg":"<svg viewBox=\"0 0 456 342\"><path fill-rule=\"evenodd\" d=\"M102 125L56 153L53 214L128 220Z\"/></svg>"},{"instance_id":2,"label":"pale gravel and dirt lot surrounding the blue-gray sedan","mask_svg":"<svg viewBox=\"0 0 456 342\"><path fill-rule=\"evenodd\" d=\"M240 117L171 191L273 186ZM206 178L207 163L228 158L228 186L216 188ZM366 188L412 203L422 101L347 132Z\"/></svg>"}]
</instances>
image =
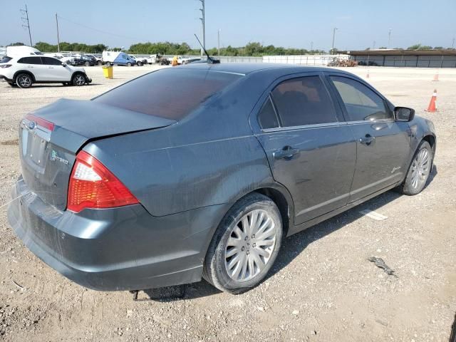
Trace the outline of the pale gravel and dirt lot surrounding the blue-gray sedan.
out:
<instances>
[{"instance_id":1,"label":"pale gravel and dirt lot surrounding the blue-gray sedan","mask_svg":"<svg viewBox=\"0 0 456 342\"><path fill-rule=\"evenodd\" d=\"M387 192L286 239L269 278L232 296L204 281L171 291L83 289L23 246L6 219L20 174L17 124L54 100L88 99L152 67L115 67L114 80L87 68L82 88L0 83L0 340L4 341L448 341L456 312L456 70L369 68L368 81L396 105L431 118L437 155L415 197ZM346 69L366 78L367 68ZM424 109L437 88L439 113ZM388 217L376 221L371 209ZM388 276L367 261L381 257Z\"/></svg>"}]
</instances>

